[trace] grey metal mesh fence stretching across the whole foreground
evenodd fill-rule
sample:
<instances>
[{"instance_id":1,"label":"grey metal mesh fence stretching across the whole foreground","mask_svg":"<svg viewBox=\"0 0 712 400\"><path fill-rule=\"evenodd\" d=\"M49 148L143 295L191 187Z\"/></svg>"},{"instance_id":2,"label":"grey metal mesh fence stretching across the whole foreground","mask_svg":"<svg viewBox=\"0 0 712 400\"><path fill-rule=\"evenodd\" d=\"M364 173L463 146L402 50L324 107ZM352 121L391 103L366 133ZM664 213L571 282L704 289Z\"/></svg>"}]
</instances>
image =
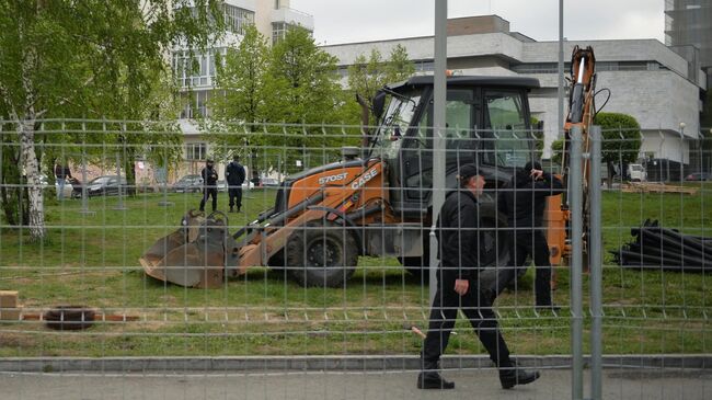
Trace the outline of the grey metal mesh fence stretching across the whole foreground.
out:
<instances>
[{"instance_id":1,"label":"grey metal mesh fence stretching across the whole foreground","mask_svg":"<svg viewBox=\"0 0 712 400\"><path fill-rule=\"evenodd\" d=\"M301 378L326 379L319 390L299 389L305 396L364 398L386 378L389 397L412 397L423 368L418 332L427 333L430 319L430 255L450 250L441 242L439 255L430 249L432 235L448 231L435 224L430 203L437 158L447 176L436 190L461 185L458 170L468 163L484 176L476 226L452 228L459 251L446 254L457 259L457 277L472 272L471 290L494 301L513 357L542 372L527 393L569 396L572 346L589 352L586 273L583 343L572 343L571 175L561 165L569 156L544 150L536 132L452 126L438 153L429 129L398 124L205 123L184 134L177 123L44 121L33 127L38 170L31 172L20 127L1 126L0 363L25 374L21 382L73 376L74 395L89 396L94 389L82 379L93 373L138 373L147 382L179 375L203 388L192 398L232 398L232 384L215 374L237 374L246 379L245 398L297 398ZM640 380L653 377L685 398L704 398L712 139L663 139L659 148L675 156L661 158L640 150L655 134L602 134L604 180L584 186L601 187L601 201L584 193L584 212L601 213L602 333L594 339L609 372L605 397L676 398ZM236 156L244 170L238 183L226 176ZM517 181L540 159L538 186L525 184L531 171ZM552 197L554 176L564 193ZM215 209L206 195L199 213L211 191ZM499 201L507 193L508 205ZM535 206L547 195L548 205ZM463 318L482 305L451 306L461 311L441 373L496 388L495 366ZM195 376L217 380L196 384ZM413 390L394 389L401 384ZM25 399L44 384L8 385L10 398ZM180 386L135 392L117 385L112 396L170 397Z\"/></svg>"}]
</instances>

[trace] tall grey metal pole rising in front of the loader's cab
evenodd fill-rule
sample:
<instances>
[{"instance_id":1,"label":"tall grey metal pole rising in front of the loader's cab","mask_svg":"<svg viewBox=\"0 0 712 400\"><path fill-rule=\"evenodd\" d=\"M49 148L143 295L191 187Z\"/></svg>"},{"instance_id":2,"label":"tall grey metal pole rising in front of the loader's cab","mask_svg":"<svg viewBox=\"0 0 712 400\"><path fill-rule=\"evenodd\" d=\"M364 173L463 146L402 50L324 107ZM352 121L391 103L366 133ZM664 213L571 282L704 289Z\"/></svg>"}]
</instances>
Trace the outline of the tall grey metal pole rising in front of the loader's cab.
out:
<instances>
[{"instance_id":1,"label":"tall grey metal pole rising in front of the loader's cab","mask_svg":"<svg viewBox=\"0 0 712 400\"><path fill-rule=\"evenodd\" d=\"M437 282L437 239L435 224L445 203L445 100L447 82L447 0L435 1L435 73L434 73L434 126L433 126L433 225L430 226L430 300L435 298Z\"/></svg>"}]
</instances>

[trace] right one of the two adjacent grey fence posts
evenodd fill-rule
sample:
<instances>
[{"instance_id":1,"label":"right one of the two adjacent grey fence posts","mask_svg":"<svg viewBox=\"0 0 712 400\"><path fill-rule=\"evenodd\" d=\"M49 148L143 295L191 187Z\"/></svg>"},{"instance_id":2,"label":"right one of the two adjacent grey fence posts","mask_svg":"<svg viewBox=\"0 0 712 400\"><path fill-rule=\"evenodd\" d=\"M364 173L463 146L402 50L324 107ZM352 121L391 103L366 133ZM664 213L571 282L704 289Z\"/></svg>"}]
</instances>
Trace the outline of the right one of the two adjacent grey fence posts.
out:
<instances>
[{"instance_id":1,"label":"right one of the two adjacent grey fence posts","mask_svg":"<svg viewBox=\"0 0 712 400\"><path fill-rule=\"evenodd\" d=\"M588 236L589 256L589 290L590 290L590 398L601 399L601 369L602 369L602 236L601 236L601 129L600 126L592 126L590 130L590 181L588 193L590 195L590 216Z\"/></svg>"}]
</instances>

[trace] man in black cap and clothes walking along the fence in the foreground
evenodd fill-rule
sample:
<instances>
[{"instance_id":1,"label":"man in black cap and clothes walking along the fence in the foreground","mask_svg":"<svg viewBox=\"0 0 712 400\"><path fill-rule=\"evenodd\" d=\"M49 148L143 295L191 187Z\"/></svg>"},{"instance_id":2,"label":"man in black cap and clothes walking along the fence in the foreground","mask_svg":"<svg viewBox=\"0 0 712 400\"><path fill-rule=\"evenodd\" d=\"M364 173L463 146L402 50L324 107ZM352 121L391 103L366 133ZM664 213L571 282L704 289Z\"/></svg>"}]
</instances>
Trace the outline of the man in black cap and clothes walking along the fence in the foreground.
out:
<instances>
[{"instance_id":1,"label":"man in black cap and clothes walking along the fence in the foreground","mask_svg":"<svg viewBox=\"0 0 712 400\"><path fill-rule=\"evenodd\" d=\"M475 164L460 168L459 190L448 193L437 220L438 258L437 292L433 299L429 325L421 353L422 372L418 389L452 389L455 384L438 373L440 355L445 352L458 316L458 308L468 317L490 358L499 369L499 382L505 389L539 378L539 372L519 369L509 358L509 350L497 328L490 298L480 290L479 232L476 197L482 194L484 179Z\"/></svg>"}]
</instances>

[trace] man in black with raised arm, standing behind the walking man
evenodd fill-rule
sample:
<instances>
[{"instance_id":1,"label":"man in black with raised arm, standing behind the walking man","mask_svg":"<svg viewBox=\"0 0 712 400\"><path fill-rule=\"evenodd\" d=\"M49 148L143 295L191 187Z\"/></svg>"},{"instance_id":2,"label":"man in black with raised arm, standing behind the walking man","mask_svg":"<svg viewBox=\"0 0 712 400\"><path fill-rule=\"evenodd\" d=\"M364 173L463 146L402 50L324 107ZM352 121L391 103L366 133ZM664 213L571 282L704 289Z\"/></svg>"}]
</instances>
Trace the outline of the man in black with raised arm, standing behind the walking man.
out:
<instances>
[{"instance_id":1,"label":"man in black with raised arm, standing behind the walking man","mask_svg":"<svg viewBox=\"0 0 712 400\"><path fill-rule=\"evenodd\" d=\"M503 187L497 204L499 212L507 215L513 258L510 265L498 273L496 295L527 272L525 262L527 256L531 256L537 267L536 305L538 308L558 309L551 298L551 262L542 219L547 197L561 194L563 190L561 180L544 172L536 161L518 170Z\"/></svg>"}]
</instances>

